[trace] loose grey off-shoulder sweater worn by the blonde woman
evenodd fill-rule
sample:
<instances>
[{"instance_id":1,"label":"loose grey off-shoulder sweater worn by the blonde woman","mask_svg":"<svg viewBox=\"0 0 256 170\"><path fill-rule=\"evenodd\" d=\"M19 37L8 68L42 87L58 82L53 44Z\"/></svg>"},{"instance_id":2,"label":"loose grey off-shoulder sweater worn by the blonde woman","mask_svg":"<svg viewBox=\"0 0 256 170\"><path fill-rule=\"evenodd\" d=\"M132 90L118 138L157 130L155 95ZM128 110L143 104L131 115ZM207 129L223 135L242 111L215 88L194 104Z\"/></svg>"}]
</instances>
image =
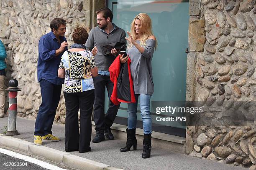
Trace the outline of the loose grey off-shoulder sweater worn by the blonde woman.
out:
<instances>
[{"instance_id":1,"label":"loose grey off-shoulder sweater worn by the blonde woman","mask_svg":"<svg viewBox=\"0 0 256 170\"><path fill-rule=\"evenodd\" d=\"M140 43L139 40L137 42ZM155 45L155 40L146 40L146 47L142 54L134 45L128 49L135 94L152 95L154 92L151 61Z\"/></svg>"}]
</instances>

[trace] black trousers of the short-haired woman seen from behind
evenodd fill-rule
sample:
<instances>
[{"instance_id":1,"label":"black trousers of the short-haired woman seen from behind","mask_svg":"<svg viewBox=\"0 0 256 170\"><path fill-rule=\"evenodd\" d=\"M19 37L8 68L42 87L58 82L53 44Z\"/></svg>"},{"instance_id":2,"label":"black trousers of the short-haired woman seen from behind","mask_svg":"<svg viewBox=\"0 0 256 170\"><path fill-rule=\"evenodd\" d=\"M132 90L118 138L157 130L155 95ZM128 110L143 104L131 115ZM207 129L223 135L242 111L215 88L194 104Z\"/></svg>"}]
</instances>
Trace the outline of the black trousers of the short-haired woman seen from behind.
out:
<instances>
[{"instance_id":1,"label":"black trousers of the short-haired woman seen from behind","mask_svg":"<svg viewBox=\"0 0 256 170\"><path fill-rule=\"evenodd\" d=\"M94 90L84 92L64 92L66 102L65 149L88 150L92 136L92 107ZM80 108L80 135L78 109Z\"/></svg>"}]
</instances>

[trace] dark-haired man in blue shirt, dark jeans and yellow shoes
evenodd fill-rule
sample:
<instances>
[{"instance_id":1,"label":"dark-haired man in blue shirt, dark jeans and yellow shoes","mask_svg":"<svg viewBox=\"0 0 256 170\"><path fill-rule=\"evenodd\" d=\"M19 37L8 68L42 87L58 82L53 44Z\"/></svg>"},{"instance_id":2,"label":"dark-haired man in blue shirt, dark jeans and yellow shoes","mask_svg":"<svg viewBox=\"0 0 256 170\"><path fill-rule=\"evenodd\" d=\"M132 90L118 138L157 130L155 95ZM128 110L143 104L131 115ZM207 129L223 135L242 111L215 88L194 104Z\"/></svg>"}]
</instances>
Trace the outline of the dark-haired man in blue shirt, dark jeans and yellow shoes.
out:
<instances>
[{"instance_id":1,"label":"dark-haired man in blue shirt, dark jeans and yellow shoes","mask_svg":"<svg viewBox=\"0 0 256 170\"><path fill-rule=\"evenodd\" d=\"M66 21L54 18L51 32L43 35L38 44L37 78L41 87L42 103L36 117L34 143L60 141L52 135L51 128L59 104L63 78L58 77L61 56L67 50Z\"/></svg>"}]
</instances>

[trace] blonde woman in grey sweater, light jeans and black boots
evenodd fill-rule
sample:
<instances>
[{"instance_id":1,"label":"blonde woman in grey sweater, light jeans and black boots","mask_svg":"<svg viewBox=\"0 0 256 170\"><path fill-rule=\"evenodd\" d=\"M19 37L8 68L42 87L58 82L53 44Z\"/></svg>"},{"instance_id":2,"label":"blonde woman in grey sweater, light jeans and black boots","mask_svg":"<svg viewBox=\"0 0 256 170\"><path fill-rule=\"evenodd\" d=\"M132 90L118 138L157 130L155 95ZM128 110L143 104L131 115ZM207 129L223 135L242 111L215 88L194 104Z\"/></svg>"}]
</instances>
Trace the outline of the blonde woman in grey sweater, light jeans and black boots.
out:
<instances>
[{"instance_id":1,"label":"blonde woman in grey sweater, light jeans and black boots","mask_svg":"<svg viewBox=\"0 0 256 170\"><path fill-rule=\"evenodd\" d=\"M154 92L151 61L154 50L157 46L156 37L152 33L151 19L146 13L138 14L131 23L131 32L127 32L128 56L120 56L122 63L131 59L131 75L133 77L133 87L136 103L128 103L128 128L127 142L121 152L137 149L136 122L138 96L140 96L141 117L143 121L144 139L142 158L149 158L151 153L151 114L150 97Z\"/></svg>"}]
</instances>

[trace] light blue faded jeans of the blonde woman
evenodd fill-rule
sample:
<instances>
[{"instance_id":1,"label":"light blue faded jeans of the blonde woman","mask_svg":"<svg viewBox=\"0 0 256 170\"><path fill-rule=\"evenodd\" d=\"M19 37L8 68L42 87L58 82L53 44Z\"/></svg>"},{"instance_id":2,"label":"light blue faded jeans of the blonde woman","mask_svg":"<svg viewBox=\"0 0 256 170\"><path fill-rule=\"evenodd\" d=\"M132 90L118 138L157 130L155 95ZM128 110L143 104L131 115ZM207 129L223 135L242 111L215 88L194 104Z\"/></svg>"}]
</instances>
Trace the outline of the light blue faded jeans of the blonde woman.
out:
<instances>
[{"instance_id":1,"label":"light blue faded jeans of the blonde woman","mask_svg":"<svg viewBox=\"0 0 256 170\"><path fill-rule=\"evenodd\" d=\"M139 95L135 95L136 103L127 103L128 129L136 128L138 96ZM140 94L141 117L143 122L144 134L152 133L152 121L151 121L151 113L150 113L150 107L149 107L150 97L151 95Z\"/></svg>"}]
</instances>

